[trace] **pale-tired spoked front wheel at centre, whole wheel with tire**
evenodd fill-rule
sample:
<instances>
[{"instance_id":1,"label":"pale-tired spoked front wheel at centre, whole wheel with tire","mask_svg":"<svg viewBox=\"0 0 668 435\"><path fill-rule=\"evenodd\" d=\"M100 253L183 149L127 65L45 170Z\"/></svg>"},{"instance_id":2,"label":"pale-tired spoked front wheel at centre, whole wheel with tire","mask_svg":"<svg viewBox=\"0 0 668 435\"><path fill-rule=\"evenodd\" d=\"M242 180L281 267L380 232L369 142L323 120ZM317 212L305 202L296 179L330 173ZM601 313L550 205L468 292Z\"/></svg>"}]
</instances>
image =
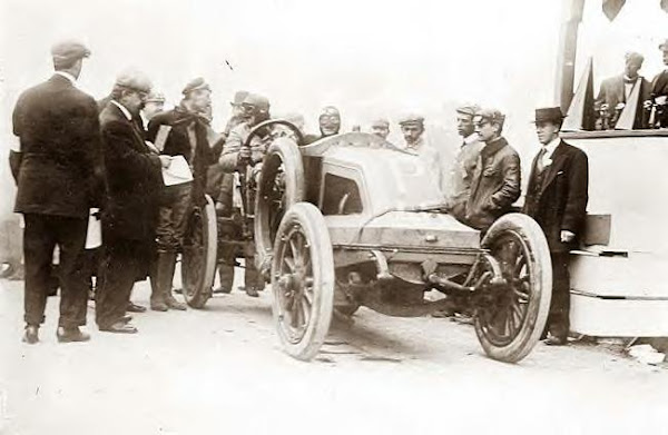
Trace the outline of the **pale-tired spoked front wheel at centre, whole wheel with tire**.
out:
<instances>
[{"instance_id":1,"label":"pale-tired spoked front wheel at centre, whole wheel with tire","mask_svg":"<svg viewBox=\"0 0 668 435\"><path fill-rule=\"evenodd\" d=\"M283 348L312 359L330 330L334 257L320 210L298 202L284 216L272 263L273 312Z\"/></svg>"}]
</instances>

